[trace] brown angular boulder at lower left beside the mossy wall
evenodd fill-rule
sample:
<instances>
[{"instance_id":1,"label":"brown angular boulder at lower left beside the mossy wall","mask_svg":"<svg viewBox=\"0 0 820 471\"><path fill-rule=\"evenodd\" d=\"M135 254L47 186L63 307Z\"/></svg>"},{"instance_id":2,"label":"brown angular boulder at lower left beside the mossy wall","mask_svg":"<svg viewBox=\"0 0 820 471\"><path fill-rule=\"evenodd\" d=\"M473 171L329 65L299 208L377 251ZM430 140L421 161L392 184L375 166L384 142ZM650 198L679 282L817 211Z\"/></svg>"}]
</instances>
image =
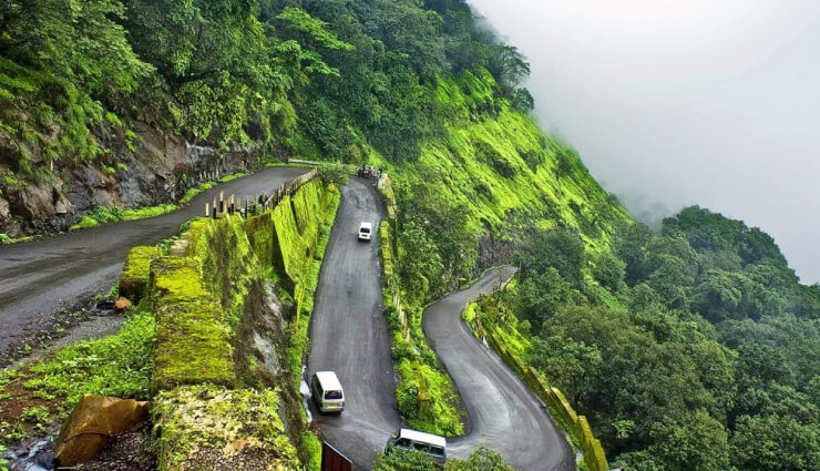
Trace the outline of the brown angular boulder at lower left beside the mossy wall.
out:
<instances>
[{"instance_id":1,"label":"brown angular boulder at lower left beside the mossy wall","mask_svg":"<svg viewBox=\"0 0 820 471\"><path fill-rule=\"evenodd\" d=\"M84 395L60 429L54 464L72 467L94 458L109 441L148 419L148 402Z\"/></svg>"}]
</instances>

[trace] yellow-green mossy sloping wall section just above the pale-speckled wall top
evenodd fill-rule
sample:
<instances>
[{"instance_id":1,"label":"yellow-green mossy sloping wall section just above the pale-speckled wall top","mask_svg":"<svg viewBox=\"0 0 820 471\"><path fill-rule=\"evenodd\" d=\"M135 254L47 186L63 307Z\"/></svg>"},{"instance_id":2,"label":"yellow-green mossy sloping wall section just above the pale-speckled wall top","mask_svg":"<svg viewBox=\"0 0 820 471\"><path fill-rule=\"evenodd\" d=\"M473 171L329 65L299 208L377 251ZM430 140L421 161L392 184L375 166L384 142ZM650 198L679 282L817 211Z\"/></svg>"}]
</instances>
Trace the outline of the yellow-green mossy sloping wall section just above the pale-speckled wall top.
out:
<instances>
[{"instance_id":1,"label":"yellow-green mossy sloping wall section just above the pale-speckled wall top","mask_svg":"<svg viewBox=\"0 0 820 471\"><path fill-rule=\"evenodd\" d=\"M151 276L156 306L152 390L205 382L233 387L230 331L219 303L203 286L199 262L157 258Z\"/></svg>"}]
</instances>

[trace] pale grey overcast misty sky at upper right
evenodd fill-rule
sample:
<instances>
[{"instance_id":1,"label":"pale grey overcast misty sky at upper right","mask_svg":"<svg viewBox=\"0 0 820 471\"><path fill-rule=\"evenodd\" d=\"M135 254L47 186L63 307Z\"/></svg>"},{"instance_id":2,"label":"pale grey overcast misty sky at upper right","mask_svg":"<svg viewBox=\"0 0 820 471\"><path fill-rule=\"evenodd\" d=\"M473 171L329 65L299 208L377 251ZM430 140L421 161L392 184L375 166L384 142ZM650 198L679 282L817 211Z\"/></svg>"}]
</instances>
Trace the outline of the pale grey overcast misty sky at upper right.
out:
<instances>
[{"instance_id":1,"label":"pale grey overcast misty sky at upper right","mask_svg":"<svg viewBox=\"0 0 820 471\"><path fill-rule=\"evenodd\" d=\"M820 0L469 0L634 215L700 204L820 281Z\"/></svg>"}]
</instances>

